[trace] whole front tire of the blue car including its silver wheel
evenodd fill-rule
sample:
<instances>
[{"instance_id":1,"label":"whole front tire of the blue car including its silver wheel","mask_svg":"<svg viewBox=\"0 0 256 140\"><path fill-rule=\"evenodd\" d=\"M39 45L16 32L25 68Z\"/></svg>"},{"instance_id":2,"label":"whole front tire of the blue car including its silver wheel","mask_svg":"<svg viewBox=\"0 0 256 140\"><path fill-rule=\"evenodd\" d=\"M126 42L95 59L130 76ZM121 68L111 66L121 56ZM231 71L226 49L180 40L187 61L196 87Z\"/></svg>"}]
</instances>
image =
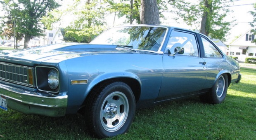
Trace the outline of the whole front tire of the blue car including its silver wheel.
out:
<instances>
[{"instance_id":1,"label":"whole front tire of the blue car including its silver wheel","mask_svg":"<svg viewBox=\"0 0 256 140\"><path fill-rule=\"evenodd\" d=\"M107 138L128 131L135 114L135 97L127 84L104 84L90 96L85 115L92 135Z\"/></svg>"}]
</instances>

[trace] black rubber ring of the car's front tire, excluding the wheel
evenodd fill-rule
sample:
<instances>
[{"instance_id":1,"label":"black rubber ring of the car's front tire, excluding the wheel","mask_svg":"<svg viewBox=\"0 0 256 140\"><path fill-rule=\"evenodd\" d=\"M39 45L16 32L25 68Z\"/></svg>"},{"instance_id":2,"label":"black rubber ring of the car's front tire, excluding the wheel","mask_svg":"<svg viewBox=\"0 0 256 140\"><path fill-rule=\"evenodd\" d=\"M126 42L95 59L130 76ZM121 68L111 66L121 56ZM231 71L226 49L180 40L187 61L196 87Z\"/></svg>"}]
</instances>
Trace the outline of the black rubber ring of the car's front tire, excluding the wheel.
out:
<instances>
[{"instance_id":1,"label":"black rubber ring of the car's front tire, excluding the wheel","mask_svg":"<svg viewBox=\"0 0 256 140\"><path fill-rule=\"evenodd\" d=\"M102 110L101 107L102 107L104 100L107 98L107 96L109 96L111 93L113 93L115 91L119 91L126 96L126 98L128 99L128 103L129 103L129 111L128 111L128 117L126 118L126 121L123 124L123 126L121 126L118 130L116 130L114 132L109 132L109 131L106 131L101 124L100 113ZM94 125L95 132L98 133L100 138L107 138L107 137L125 133L130 128L130 125L132 124L133 117L135 114L135 97L133 96L133 92L130 89L130 87L123 82L114 82L114 83L111 83L108 86L106 86L100 93L100 96L98 96L98 97L100 98L100 100L99 100L97 107L95 108L95 111L94 111L95 117L91 118L91 119L94 119L93 121L95 122L95 125Z\"/></svg>"}]
</instances>

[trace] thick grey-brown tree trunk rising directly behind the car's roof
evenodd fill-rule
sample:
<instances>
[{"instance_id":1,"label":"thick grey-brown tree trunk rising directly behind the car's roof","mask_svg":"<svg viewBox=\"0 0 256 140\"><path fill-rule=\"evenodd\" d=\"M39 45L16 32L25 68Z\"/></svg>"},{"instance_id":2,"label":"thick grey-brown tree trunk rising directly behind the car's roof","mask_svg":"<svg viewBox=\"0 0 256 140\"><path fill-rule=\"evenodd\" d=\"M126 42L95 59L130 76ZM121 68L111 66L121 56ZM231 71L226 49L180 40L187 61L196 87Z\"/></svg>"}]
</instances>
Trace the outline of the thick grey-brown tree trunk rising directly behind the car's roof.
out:
<instances>
[{"instance_id":1,"label":"thick grey-brown tree trunk rising directly behind the car's roof","mask_svg":"<svg viewBox=\"0 0 256 140\"><path fill-rule=\"evenodd\" d=\"M140 23L160 24L156 0L141 0Z\"/></svg>"}]
</instances>

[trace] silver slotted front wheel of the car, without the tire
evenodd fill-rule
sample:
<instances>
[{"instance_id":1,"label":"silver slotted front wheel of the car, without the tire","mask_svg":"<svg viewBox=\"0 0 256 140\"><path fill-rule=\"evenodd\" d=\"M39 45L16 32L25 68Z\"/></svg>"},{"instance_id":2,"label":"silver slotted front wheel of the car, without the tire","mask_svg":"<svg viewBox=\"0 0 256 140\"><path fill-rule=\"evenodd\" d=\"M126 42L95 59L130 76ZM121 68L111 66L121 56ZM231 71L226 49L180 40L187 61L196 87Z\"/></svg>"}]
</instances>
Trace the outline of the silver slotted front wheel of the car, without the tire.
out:
<instances>
[{"instance_id":1,"label":"silver slotted front wheel of the car, without the tire","mask_svg":"<svg viewBox=\"0 0 256 140\"><path fill-rule=\"evenodd\" d=\"M101 124L106 131L119 130L126 122L129 112L129 102L124 93L110 93L105 98L100 112Z\"/></svg>"}]
</instances>

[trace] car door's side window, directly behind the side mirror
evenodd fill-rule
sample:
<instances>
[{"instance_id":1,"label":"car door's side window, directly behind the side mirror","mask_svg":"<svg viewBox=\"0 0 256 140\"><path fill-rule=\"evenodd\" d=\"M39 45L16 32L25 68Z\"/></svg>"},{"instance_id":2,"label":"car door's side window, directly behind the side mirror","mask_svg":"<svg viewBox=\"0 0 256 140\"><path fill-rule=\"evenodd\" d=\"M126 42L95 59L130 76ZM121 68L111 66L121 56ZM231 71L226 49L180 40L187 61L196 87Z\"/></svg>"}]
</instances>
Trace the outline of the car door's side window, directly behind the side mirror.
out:
<instances>
[{"instance_id":1,"label":"car door's side window, directly behind the side mirror","mask_svg":"<svg viewBox=\"0 0 256 140\"><path fill-rule=\"evenodd\" d=\"M166 49L169 49L171 54L173 54L175 47L184 48L184 54L180 55L199 57L197 40L194 34L173 31L171 33L171 38L168 41Z\"/></svg>"}]
</instances>

